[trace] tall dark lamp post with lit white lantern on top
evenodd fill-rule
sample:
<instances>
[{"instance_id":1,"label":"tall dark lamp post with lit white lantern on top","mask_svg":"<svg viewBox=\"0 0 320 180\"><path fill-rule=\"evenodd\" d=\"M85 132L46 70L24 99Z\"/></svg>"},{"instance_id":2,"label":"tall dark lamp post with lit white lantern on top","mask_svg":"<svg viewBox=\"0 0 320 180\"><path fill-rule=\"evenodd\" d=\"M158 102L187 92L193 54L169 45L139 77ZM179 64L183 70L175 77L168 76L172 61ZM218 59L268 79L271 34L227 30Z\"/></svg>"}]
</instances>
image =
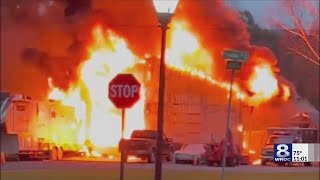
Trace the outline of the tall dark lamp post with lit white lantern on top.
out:
<instances>
[{"instance_id":1,"label":"tall dark lamp post with lit white lantern on top","mask_svg":"<svg viewBox=\"0 0 320 180\"><path fill-rule=\"evenodd\" d=\"M162 147L163 147L163 117L164 117L164 92L165 92L165 50L166 32L171 17L179 0L153 0L157 12L159 27L161 28L161 57L159 74L159 99L158 99L158 127L155 180L162 180Z\"/></svg>"}]
</instances>

